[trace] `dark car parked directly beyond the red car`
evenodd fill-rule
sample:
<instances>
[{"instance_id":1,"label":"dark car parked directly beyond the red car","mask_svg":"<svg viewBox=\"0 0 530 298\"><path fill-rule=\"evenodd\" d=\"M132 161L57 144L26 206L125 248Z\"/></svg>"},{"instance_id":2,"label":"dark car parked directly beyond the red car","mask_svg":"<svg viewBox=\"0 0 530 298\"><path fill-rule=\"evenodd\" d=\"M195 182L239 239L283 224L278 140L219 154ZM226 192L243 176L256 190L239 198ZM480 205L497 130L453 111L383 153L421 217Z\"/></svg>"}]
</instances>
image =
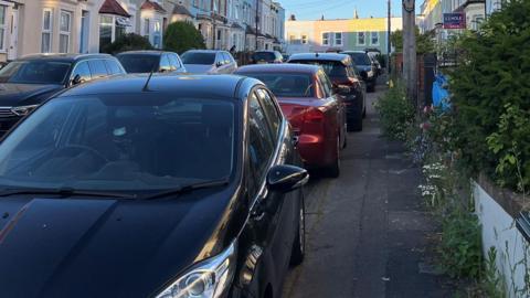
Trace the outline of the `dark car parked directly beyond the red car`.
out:
<instances>
[{"instance_id":1,"label":"dark car parked directly beyond the red car","mask_svg":"<svg viewBox=\"0 0 530 298\"><path fill-rule=\"evenodd\" d=\"M322 66L335 88L344 97L348 129L362 130L362 118L367 111L367 88L356 74L351 57L333 53L293 54L289 63L317 64Z\"/></svg>"}]
</instances>

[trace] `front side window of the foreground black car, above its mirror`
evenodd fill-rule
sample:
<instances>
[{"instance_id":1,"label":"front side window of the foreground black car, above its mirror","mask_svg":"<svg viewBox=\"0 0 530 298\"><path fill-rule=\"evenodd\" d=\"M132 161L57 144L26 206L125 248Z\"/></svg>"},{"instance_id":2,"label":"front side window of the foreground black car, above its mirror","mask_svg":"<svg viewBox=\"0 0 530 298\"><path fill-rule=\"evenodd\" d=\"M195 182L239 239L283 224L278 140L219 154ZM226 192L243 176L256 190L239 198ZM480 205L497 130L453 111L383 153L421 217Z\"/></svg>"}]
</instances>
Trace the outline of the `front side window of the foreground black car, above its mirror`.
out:
<instances>
[{"instance_id":1,"label":"front side window of the foreground black car, above its mirror","mask_svg":"<svg viewBox=\"0 0 530 298\"><path fill-rule=\"evenodd\" d=\"M255 181L261 182L266 174L274 148L268 131L267 119L257 96L248 97L248 159Z\"/></svg>"}]
</instances>

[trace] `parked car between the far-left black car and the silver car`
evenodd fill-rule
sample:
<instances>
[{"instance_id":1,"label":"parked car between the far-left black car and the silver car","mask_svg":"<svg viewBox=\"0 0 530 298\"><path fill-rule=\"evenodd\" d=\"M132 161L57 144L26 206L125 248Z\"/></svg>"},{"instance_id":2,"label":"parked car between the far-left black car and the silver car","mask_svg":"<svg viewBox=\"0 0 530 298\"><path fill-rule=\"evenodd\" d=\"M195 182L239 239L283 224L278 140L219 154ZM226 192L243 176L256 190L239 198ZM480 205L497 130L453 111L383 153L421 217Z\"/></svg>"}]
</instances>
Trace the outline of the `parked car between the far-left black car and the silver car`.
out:
<instances>
[{"instance_id":1,"label":"parked car between the far-left black car and the silver car","mask_svg":"<svg viewBox=\"0 0 530 298\"><path fill-rule=\"evenodd\" d=\"M128 51L116 55L129 74L140 73L186 73L179 54L161 51Z\"/></svg>"}]
</instances>

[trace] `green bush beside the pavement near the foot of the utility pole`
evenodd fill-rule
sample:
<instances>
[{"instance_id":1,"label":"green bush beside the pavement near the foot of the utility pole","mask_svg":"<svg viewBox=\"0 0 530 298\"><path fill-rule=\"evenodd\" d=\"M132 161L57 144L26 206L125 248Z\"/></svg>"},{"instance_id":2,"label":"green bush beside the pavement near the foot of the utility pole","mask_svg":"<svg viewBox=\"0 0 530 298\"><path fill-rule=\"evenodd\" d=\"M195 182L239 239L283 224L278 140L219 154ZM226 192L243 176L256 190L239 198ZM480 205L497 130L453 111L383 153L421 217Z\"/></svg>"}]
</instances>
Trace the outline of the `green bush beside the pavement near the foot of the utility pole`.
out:
<instances>
[{"instance_id":1,"label":"green bush beside the pavement near the foot of the utility pole","mask_svg":"<svg viewBox=\"0 0 530 298\"><path fill-rule=\"evenodd\" d=\"M405 96L405 87L398 82L375 103L383 135L394 140L406 140L406 131L414 123L415 108Z\"/></svg>"}]
</instances>

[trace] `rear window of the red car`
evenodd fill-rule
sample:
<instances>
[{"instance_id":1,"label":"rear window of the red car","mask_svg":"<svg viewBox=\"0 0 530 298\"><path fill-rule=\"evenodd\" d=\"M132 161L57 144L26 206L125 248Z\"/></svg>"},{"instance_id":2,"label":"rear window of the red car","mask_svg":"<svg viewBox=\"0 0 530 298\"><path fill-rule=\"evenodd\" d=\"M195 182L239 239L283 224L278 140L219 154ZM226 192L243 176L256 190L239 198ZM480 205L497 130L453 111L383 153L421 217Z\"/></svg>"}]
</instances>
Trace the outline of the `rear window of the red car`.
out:
<instances>
[{"instance_id":1,"label":"rear window of the red car","mask_svg":"<svg viewBox=\"0 0 530 298\"><path fill-rule=\"evenodd\" d=\"M243 73L265 83L278 97L314 97L311 76L285 73Z\"/></svg>"}]
</instances>

